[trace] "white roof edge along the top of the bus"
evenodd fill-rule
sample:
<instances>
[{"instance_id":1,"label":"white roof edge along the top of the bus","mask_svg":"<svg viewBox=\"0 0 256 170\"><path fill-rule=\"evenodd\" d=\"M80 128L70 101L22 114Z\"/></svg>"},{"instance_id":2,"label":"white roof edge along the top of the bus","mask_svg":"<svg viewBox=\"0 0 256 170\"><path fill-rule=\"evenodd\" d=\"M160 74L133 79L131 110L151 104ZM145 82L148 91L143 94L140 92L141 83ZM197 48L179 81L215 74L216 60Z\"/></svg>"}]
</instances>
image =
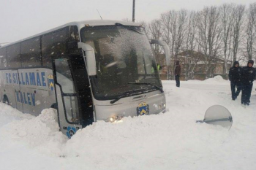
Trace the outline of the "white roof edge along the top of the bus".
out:
<instances>
[{"instance_id":1,"label":"white roof edge along the top of the bus","mask_svg":"<svg viewBox=\"0 0 256 170\"><path fill-rule=\"evenodd\" d=\"M86 26L87 24L89 24L89 26L114 26L116 23L121 23L122 25L124 26L140 26L140 23L132 23L132 22L125 22L125 21L120 21L120 20L83 20L83 21L75 21L75 22L71 22L71 23L67 23L67 24L64 24L62 26L58 26L56 28L52 28L48 31L44 31L44 32L41 32L39 34L35 34L34 36L29 36L25 39L20 39L16 42L12 42L8 45L3 45L0 47L0 49L2 47L7 47L9 45L14 45L15 43L18 43L18 42L23 42L27 39L32 39L34 37L37 37L37 36L41 36L43 34L48 34L52 31L56 31L56 30L59 30L61 28L65 28L67 26L78 26L78 30L80 30L80 28L83 28L84 26Z\"/></svg>"}]
</instances>

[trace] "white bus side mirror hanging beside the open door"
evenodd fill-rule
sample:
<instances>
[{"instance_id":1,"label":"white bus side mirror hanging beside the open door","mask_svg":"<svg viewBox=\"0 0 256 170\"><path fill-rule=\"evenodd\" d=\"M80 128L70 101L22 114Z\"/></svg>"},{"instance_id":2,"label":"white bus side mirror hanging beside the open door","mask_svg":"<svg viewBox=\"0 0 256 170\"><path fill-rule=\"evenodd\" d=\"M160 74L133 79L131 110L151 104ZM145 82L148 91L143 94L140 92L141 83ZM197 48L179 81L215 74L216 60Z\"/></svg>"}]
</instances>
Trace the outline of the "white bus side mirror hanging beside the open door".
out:
<instances>
[{"instance_id":1,"label":"white bus side mirror hanging beside the open door","mask_svg":"<svg viewBox=\"0 0 256 170\"><path fill-rule=\"evenodd\" d=\"M85 54L86 68L89 76L95 76L97 74L96 60L94 54L94 48L83 42L78 42L78 48L81 48Z\"/></svg>"}]
</instances>

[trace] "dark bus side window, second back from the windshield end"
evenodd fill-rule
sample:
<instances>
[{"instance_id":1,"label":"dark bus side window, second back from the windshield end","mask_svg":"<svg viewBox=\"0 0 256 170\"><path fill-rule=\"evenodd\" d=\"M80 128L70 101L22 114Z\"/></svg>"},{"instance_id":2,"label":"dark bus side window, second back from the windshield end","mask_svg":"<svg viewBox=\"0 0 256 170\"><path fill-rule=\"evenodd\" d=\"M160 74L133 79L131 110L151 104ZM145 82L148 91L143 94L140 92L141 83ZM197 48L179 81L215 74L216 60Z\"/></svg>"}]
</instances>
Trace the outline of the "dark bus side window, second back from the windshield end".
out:
<instances>
[{"instance_id":1,"label":"dark bus side window, second back from the windshield end","mask_svg":"<svg viewBox=\"0 0 256 170\"><path fill-rule=\"evenodd\" d=\"M21 61L23 67L41 66L39 37L21 42Z\"/></svg>"}]
</instances>

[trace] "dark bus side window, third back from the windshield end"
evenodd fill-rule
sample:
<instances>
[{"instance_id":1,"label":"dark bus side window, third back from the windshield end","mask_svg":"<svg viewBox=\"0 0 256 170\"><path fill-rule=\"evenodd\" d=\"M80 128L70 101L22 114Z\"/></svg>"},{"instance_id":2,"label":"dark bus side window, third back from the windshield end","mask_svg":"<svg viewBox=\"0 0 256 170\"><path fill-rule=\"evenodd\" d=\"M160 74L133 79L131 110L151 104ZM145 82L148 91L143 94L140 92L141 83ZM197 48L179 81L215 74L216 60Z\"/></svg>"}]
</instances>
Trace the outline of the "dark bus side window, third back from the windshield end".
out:
<instances>
[{"instance_id":1,"label":"dark bus side window, third back from the windshield end","mask_svg":"<svg viewBox=\"0 0 256 170\"><path fill-rule=\"evenodd\" d=\"M20 43L7 47L7 68L20 68Z\"/></svg>"}]
</instances>

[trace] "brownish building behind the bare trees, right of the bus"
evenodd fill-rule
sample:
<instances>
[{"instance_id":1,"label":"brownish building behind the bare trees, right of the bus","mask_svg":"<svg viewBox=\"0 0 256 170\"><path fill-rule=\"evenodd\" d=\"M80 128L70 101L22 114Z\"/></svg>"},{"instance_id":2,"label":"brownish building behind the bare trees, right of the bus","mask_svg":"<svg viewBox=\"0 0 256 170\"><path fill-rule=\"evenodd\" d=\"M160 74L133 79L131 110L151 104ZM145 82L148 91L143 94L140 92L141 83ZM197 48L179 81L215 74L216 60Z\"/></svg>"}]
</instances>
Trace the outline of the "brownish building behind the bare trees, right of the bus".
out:
<instances>
[{"instance_id":1,"label":"brownish building behind the bare trees, right of the bus","mask_svg":"<svg viewBox=\"0 0 256 170\"><path fill-rule=\"evenodd\" d=\"M232 61L227 60L226 72L225 60L223 58L210 57L211 56L192 50L178 53L177 60L180 61L181 64L181 80L206 80L207 69L210 69L208 70L210 74L208 74L207 78L220 75L223 79L227 80L227 72L232 66ZM173 77L171 72L173 69L165 66L165 56L159 54L156 56L156 60L162 68L159 72L161 79L168 80L168 77ZM171 66L174 66L173 58L171 62Z\"/></svg>"}]
</instances>

